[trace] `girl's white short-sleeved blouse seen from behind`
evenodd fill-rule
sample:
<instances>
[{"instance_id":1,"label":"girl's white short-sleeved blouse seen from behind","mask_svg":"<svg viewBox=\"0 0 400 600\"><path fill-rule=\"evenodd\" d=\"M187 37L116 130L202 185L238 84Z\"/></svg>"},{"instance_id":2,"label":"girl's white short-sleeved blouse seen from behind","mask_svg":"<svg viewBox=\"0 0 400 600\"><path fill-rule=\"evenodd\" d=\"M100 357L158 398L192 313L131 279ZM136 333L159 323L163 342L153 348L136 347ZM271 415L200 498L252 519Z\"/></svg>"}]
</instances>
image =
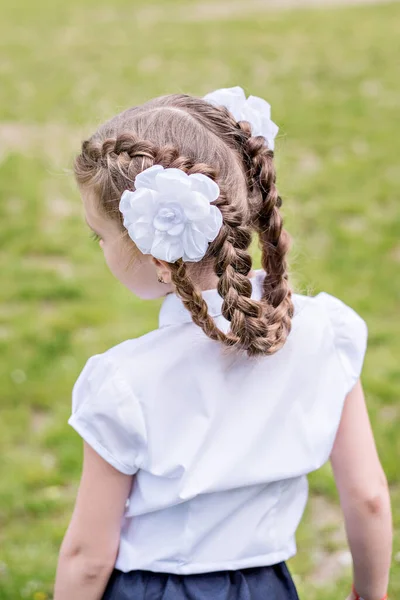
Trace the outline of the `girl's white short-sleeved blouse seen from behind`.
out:
<instances>
[{"instance_id":1,"label":"girl's white short-sleeved blouse seen from behind","mask_svg":"<svg viewBox=\"0 0 400 600\"><path fill-rule=\"evenodd\" d=\"M217 291L204 298L226 330ZM88 360L68 422L136 474L117 569L201 573L295 554L306 476L329 458L367 325L326 292L293 301L292 330L272 356L227 353L171 294L157 330Z\"/></svg>"}]
</instances>

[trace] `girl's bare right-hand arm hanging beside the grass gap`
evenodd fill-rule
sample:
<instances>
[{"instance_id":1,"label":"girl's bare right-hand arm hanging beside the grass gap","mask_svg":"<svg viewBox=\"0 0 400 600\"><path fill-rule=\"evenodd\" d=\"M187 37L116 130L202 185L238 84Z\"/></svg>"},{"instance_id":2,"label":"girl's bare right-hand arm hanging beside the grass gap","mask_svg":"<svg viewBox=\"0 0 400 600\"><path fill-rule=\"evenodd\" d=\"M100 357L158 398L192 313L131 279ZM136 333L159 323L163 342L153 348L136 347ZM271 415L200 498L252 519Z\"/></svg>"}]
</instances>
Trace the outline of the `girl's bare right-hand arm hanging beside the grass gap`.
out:
<instances>
[{"instance_id":1,"label":"girl's bare right-hand arm hanging beside the grass gap","mask_svg":"<svg viewBox=\"0 0 400 600\"><path fill-rule=\"evenodd\" d=\"M355 589L365 600L380 600L389 580L392 518L360 380L347 395L331 463L353 556Z\"/></svg>"}]
</instances>

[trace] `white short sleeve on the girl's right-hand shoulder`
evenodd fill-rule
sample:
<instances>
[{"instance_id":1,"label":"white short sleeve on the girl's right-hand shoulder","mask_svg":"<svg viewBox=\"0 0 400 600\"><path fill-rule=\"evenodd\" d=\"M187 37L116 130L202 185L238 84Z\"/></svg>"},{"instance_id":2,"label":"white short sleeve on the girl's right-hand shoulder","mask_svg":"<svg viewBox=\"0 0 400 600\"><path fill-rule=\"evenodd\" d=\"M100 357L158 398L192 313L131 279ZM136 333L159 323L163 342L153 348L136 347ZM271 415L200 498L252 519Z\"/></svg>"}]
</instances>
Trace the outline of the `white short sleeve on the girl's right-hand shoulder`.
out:
<instances>
[{"instance_id":1,"label":"white short sleeve on the girl's right-hand shoulder","mask_svg":"<svg viewBox=\"0 0 400 600\"><path fill-rule=\"evenodd\" d=\"M331 294L320 292L316 299L324 305L329 314L348 393L361 375L367 349L367 323L353 308Z\"/></svg>"}]
</instances>

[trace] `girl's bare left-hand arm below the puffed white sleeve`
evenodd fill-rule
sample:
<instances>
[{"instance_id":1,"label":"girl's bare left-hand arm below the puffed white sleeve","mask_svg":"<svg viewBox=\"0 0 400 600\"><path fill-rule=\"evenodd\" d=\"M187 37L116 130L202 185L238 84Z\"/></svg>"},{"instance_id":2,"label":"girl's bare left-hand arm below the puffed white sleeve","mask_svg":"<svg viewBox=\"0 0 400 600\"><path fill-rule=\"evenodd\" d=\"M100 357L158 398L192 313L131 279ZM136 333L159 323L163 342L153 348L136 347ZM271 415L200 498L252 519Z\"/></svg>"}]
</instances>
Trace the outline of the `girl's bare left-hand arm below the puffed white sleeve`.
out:
<instances>
[{"instance_id":1,"label":"girl's bare left-hand arm below the puffed white sleeve","mask_svg":"<svg viewBox=\"0 0 400 600\"><path fill-rule=\"evenodd\" d=\"M58 558L54 600L100 600L115 565L132 476L86 442L82 478Z\"/></svg>"}]
</instances>

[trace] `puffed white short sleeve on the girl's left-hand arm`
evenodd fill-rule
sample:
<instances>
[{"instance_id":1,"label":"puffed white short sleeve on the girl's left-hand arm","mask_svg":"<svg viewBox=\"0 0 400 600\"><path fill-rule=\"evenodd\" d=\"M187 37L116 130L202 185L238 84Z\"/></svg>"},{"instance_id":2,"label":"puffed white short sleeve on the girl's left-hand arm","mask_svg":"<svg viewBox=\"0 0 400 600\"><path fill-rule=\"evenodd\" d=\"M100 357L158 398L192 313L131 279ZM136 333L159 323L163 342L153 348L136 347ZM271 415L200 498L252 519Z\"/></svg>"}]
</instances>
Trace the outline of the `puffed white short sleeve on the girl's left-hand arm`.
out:
<instances>
[{"instance_id":1,"label":"puffed white short sleeve on the girl's left-hand arm","mask_svg":"<svg viewBox=\"0 0 400 600\"><path fill-rule=\"evenodd\" d=\"M138 471L146 442L142 410L106 353L89 358L79 375L68 423L115 469Z\"/></svg>"}]
</instances>

